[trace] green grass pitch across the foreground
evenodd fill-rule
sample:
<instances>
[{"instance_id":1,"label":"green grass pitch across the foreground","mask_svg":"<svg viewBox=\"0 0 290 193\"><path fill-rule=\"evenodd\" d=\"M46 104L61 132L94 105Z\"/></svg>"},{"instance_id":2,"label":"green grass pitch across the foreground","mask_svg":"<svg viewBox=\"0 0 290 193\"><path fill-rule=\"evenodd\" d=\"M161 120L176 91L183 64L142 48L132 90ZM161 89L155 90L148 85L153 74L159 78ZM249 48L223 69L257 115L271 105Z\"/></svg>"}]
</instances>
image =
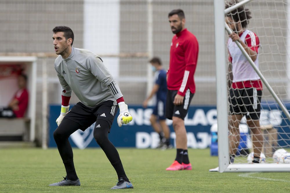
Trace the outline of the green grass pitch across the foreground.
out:
<instances>
[{"instance_id":1,"label":"green grass pitch across the foreground","mask_svg":"<svg viewBox=\"0 0 290 193\"><path fill-rule=\"evenodd\" d=\"M290 192L290 174L218 173L218 157L209 149L189 149L192 171L166 171L175 149L118 148L134 189L110 190L117 182L115 170L100 148L74 149L78 187L49 187L62 180L65 169L57 149L1 149L0 192Z\"/></svg>"}]
</instances>

